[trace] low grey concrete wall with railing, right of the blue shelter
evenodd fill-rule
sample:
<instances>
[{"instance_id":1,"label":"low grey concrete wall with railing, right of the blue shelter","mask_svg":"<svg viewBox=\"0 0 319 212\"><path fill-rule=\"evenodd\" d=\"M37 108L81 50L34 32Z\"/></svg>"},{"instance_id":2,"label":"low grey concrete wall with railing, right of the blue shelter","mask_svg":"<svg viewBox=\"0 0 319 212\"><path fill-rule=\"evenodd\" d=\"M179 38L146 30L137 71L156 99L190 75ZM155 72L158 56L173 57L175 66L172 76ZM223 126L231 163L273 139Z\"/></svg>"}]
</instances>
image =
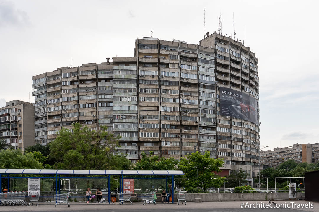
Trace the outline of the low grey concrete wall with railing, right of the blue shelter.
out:
<instances>
[{"instance_id":1,"label":"low grey concrete wall with railing, right of the blue shelter","mask_svg":"<svg viewBox=\"0 0 319 212\"><path fill-rule=\"evenodd\" d=\"M177 194L174 194L174 201L177 201ZM267 200L289 200L289 193L246 193L246 194L199 194L203 202L213 201L265 201ZM197 194L186 194L186 201L193 202ZM297 193L297 199L305 199L305 193Z\"/></svg>"}]
</instances>

